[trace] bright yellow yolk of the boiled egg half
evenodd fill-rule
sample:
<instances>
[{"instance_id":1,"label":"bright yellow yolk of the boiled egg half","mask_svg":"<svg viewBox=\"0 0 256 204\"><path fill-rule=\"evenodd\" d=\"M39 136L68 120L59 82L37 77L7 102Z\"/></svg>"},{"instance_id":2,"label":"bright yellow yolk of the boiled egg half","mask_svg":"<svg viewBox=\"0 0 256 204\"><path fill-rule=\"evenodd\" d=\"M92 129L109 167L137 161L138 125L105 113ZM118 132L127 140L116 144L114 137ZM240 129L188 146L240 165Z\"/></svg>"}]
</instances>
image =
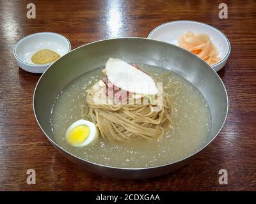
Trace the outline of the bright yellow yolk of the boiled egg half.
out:
<instances>
[{"instance_id":1,"label":"bright yellow yolk of the boiled egg half","mask_svg":"<svg viewBox=\"0 0 256 204\"><path fill-rule=\"evenodd\" d=\"M90 128L86 125L79 125L71 129L67 135L67 142L71 145L83 143L90 135Z\"/></svg>"}]
</instances>

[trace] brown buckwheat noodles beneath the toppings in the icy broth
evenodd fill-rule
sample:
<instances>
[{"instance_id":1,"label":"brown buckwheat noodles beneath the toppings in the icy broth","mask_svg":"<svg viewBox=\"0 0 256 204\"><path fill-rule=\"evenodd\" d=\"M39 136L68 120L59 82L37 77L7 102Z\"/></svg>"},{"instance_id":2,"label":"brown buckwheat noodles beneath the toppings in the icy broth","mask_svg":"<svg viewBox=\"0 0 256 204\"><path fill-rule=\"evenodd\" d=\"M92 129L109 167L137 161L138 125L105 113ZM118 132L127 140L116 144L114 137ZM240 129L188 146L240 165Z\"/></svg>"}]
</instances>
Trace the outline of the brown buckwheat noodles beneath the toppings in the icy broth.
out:
<instances>
[{"instance_id":1,"label":"brown buckwheat noodles beneath the toppings in the icy broth","mask_svg":"<svg viewBox=\"0 0 256 204\"><path fill-rule=\"evenodd\" d=\"M92 122L99 128L102 138L107 140L159 138L172 128L172 97L177 94L177 89L181 87L181 84L180 82L170 82L165 88L169 89L170 87L174 87L174 91L170 95L163 92L163 107L157 111L152 111L154 105L151 103L140 105L136 105L136 103L132 105L95 104L93 101L95 91L88 89L83 115L92 119Z\"/></svg>"}]
</instances>

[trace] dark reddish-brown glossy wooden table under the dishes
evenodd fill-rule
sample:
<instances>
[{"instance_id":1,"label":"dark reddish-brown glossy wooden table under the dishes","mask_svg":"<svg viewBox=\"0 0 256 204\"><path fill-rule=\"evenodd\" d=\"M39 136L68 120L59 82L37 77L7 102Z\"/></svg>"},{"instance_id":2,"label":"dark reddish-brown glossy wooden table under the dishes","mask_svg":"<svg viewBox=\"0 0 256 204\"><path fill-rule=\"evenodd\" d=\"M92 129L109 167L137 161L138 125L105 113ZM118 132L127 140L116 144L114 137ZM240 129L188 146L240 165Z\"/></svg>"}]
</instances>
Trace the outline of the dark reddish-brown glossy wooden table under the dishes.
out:
<instances>
[{"instance_id":1,"label":"dark reddish-brown glossy wooden table under the dishes","mask_svg":"<svg viewBox=\"0 0 256 204\"><path fill-rule=\"evenodd\" d=\"M36 18L26 18L30 1L0 1L0 190L256 190L256 13L255 2L225 1L220 19L216 1L33 1ZM229 112L218 137L193 163L145 180L100 177L63 157L44 136L32 99L40 75L20 69L13 47L28 34L51 31L72 48L118 36L147 37L159 24L196 20L213 25L230 40L232 51L218 74L227 87ZM36 185L26 171L36 171ZM228 184L220 185L220 169Z\"/></svg>"}]
</instances>

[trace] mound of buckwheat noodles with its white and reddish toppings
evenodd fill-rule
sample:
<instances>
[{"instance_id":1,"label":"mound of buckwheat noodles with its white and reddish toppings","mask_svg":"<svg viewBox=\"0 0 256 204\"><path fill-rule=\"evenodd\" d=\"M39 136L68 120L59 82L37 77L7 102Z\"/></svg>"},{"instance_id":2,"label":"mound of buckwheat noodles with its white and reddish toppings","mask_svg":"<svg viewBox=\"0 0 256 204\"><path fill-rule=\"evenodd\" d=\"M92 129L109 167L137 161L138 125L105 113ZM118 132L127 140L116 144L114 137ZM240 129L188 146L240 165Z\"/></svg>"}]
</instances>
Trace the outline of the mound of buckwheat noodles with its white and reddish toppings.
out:
<instances>
[{"instance_id":1,"label":"mound of buckwheat noodles with its white and reddish toppings","mask_svg":"<svg viewBox=\"0 0 256 204\"><path fill-rule=\"evenodd\" d=\"M97 126L102 138L119 141L159 138L172 127L171 98L177 94L180 82L170 82L164 87L175 88L168 95L162 82L156 87L158 78L154 80L136 64L113 58L106 62L102 73L105 76L86 90L83 112Z\"/></svg>"}]
</instances>

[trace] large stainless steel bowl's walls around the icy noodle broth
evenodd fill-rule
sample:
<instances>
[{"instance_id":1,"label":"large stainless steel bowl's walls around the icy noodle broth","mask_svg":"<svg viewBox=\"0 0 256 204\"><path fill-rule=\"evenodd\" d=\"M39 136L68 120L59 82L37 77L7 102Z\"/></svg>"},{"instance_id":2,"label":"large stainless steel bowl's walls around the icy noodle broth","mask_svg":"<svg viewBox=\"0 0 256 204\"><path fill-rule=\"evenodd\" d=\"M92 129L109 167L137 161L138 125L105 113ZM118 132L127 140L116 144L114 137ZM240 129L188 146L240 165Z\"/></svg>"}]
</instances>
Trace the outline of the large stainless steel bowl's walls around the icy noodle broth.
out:
<instances>
[{"instance_id":1,"label":"large stainless steel bowl's walls around the icy noodle broth","mask_svg":"<svg viewBox=\"0 0 256 204\"><path fill-rule=\"evenodd\" d=\"M56 96L74 78L104 66L109 57L127 62L150 64L173 71L186 78L202 93L211 110L212 125L206 142L193 155L174 163L151 168L116 168L86 161L62 149L51 131L51 108ZM116 38L83 45L54 62L35 88L33 106L36 120L48 140L66 157L86 170L120 179L144 179L177 170L187 164L218 135L228 112L227 91L218 74L202 59L187 50L146 38Z\"/></svg>"}]
</instances>

